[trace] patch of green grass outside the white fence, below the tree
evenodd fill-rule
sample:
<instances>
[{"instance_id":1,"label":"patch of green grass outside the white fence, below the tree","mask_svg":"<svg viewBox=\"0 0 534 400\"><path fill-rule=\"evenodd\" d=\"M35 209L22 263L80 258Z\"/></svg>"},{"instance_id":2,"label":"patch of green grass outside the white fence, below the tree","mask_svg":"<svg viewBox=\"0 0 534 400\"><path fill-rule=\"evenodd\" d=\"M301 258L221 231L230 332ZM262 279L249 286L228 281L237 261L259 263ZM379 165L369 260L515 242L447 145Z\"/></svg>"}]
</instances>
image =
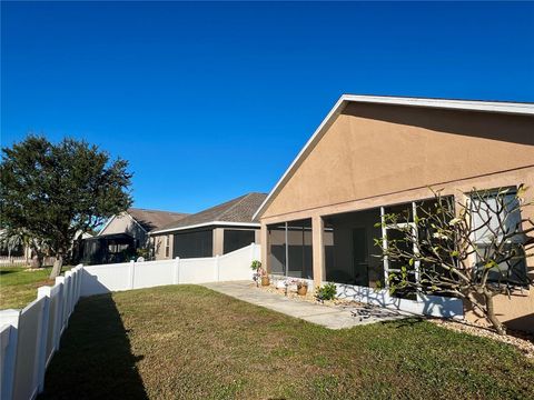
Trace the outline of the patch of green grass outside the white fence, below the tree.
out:
<instances>
[{"instance_id":1,"label":"patch of green grass outside the white fence, below the tree","mask_svg":"<svg viewBox=\"0 0 534 400\"><path fill-rule=\"evenodd\" d=\"M62 271L70 267L63 267ZM24 308L37 298L37 288L53 284L49 280L52 268L28 271L24 267L0 267L0 310Z\"/></svg>"}]
</instances>

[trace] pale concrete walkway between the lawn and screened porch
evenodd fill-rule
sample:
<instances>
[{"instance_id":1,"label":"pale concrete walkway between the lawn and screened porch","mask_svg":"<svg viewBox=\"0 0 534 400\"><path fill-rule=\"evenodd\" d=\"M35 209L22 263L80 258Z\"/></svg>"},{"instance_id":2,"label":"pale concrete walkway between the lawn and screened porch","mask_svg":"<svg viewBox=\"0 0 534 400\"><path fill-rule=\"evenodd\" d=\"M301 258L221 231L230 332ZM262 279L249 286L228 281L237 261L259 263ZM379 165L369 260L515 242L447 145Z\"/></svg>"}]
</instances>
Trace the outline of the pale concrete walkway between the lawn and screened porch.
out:
<instances>
[{"instance_id":1,"label":"pale concrete walkway between the lawn and screened porch","mask_svg":"<svg viewBox=\"0 0 534 400\"><path fill-rule=\"evenodd\" d=\"M329 329L353 328L406 317L406 314L383 308L373 308L375 312L369 312L369 308L365 307L329 307L304 300L294 300L255 288L250 281L215 282L202 286L236 299L265 307L286 316L300 318Z\"/></svg>"}]
</instances>

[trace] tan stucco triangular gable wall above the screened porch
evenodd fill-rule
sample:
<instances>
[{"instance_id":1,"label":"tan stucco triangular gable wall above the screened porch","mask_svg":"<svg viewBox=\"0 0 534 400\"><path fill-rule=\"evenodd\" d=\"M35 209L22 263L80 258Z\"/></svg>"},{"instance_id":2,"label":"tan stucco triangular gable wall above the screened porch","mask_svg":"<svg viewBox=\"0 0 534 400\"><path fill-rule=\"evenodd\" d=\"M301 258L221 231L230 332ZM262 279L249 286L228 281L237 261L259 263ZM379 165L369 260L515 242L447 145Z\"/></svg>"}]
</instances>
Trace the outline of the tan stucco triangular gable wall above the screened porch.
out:
<instances>
[{"instance_id":1,"label":"tan stucco triangular gable wall above the screened porch","mask_svg":"<svg viewBox=\"0 0 534 400\"><path fill-rule=\"evenodd\" d=\"M533 131L532 117L348 107L263 218L534 166Z\"/></svg>"}]
</instances>

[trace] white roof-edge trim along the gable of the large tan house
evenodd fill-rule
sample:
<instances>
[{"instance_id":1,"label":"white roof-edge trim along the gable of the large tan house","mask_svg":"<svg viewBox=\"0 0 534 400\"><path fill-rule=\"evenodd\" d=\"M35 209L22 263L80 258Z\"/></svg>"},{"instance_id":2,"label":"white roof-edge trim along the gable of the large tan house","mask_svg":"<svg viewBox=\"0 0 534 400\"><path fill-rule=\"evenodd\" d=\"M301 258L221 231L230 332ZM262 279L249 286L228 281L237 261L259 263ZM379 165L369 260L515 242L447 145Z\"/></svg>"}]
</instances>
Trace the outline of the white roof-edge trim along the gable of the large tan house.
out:
<instances>
[{"instance_id":1,"label":"white roof-edge trim along the gable of the large tan house","mask_svg":"<svg viewBox=\"0 0 534 400\"><path fill-rule=\"evenodd\" d=\"M339 116L349 102L363 103L380 103L394 106L411 106L411 107L428 107L438 109L464 110L464 111L482 111L482 112L500 112L513 113L523 116L534 116L534 104L524 102L502 102L502 101L481 101L481 100L447 100L447 99L432 99L432 98L409 98L409 97L388 97L388 96L360 96L360 94L343 94L335 106L330 109L314 134L308 139L297 157L289 164L281 178L275 184L258 210L254 213L253 220L256 220L265 211L266 207L270 204L275 194L281 189L287 180L293 176L296 168L300 166L306 156L312 151L313 146L318 142L326 130L334 123L334 120Z\"/></svg>"}]
</instances>

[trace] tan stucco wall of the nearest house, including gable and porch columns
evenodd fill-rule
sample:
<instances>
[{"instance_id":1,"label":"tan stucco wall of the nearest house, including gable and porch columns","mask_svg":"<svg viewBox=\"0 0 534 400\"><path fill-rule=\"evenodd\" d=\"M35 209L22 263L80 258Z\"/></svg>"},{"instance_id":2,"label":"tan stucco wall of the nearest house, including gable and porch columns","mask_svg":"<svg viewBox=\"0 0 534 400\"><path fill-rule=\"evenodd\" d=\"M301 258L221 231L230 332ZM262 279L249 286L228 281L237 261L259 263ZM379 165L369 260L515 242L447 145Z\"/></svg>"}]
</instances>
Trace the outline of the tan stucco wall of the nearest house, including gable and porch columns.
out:
<instances>
[{"instance_id":1,"label":"tan stucco wall of the nearest house, including gable and porch columns","mask_svg":"<svg viewBox=\"0 0 534 400\"><path fill-rule=\"evenodd\" d=\"M322 217L525 183L534 198L534 118L354 104L337 118L261 216L266 224L312 218L314 280L324 280ZM531 209L524 217L534 218ZM268 266L268 246L263 246ZM534 258L528 259L534 276ZM534 289L496 299L512 328L534 330ZM473 320L472 312L466 313Z\"/></svg>"}]
</instances>

